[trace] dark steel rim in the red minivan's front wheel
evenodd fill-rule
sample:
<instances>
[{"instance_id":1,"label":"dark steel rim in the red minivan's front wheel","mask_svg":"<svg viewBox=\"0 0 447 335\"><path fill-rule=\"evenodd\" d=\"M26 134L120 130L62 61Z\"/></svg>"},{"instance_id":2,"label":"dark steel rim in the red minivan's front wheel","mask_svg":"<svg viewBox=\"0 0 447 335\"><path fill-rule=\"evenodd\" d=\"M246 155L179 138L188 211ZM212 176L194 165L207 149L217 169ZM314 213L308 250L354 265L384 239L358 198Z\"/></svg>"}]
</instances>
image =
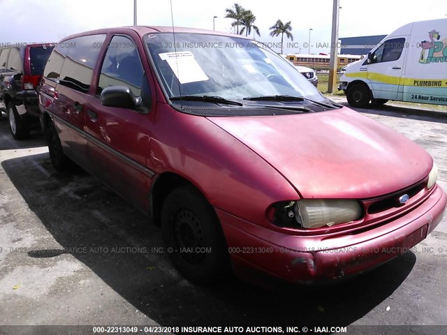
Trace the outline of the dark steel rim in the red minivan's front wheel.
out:
<instances>
[{"instance_id":1,"label":"dark steel rim in the red minivan's front wheel","mask_svg":"<svg viewBox=\"0 0 447 335\"><path fill-rule=\"evenodd\" d=\"M180 209L174 220L175 244L181 249L182 258L192 265L198 265L205 258L198 248L205 246L205 234L196 214L189 209Z\"/></svg>"}]
</instances>

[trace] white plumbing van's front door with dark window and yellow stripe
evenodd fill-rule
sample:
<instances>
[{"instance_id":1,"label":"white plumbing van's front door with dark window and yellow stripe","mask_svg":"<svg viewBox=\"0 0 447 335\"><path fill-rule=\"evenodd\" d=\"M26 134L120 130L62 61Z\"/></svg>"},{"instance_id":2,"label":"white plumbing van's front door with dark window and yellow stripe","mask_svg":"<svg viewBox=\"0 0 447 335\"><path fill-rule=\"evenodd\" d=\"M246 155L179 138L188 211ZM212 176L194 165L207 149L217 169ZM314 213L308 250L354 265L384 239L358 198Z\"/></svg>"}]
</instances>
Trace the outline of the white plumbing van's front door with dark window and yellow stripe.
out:
<instances>
[{"instance_id":1,"label":"white plumbing van's front door with dark window and yellow stripe","mask_svg":"<svg viewBox=\"0 0 447 335\"><path fill-rule=\"evenodd\" d=\"M374 98L396 100L402 71L404 69L406 36L397 36L383 41L372 52L367 78L372 84Z\"/></svg>"}]
</instances>

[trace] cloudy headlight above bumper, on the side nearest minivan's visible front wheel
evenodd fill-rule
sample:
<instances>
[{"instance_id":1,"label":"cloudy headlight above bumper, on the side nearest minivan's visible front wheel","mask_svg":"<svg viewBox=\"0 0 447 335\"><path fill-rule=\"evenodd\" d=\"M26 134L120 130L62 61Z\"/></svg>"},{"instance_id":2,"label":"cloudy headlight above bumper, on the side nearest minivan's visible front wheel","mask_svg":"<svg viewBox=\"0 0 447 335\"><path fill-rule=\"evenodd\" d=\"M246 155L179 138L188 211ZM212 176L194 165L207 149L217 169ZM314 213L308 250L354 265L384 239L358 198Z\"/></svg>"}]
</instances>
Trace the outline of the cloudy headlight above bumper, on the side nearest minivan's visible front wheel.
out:
<instances>
[{"instance_id":1,"label":"cloudy headlight above bumper, on the side nearest minivan's visible front wheel","mask_svg":"<svg viewBox=\"0 0 447 335\"><path fill-rule=\"evenodd\" d=\"M274 204L273 223L288 228L321 228L349 223L362 218L362 207L356 200L303 199Z\"/></svg>"}]
</instances>

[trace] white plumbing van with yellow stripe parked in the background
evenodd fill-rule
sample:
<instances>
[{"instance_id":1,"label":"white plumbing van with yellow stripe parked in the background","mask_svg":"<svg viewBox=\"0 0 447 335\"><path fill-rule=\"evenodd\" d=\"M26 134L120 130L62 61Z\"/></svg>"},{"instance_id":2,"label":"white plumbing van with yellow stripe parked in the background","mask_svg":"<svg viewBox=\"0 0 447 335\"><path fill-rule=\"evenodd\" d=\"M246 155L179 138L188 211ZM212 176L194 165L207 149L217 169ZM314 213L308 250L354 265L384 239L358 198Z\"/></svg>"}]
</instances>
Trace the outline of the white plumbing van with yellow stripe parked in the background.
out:
<instances>
[{"instance_id":1,"label":"white plumbing van with yellow stripe parked in the background","mask_svg":"<svg viewBox=\"0 0 447 335\"><path fill-rule=\"evenodd\" d=\"M389 100L447 105L447 19L400 27L342 73L339 90L353 107Z\"/></svg>"}]
</instances>

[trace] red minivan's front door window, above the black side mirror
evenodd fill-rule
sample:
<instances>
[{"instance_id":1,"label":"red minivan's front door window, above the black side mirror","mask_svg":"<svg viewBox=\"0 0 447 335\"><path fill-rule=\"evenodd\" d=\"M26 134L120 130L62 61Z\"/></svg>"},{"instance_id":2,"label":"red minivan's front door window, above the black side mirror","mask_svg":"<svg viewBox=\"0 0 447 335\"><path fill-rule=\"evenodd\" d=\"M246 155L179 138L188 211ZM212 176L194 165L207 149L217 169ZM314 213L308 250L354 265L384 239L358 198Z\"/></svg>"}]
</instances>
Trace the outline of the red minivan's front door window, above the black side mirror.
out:
<instances>
[{"instance_id":1,"label":"red minivan's front door window, above the black side mirror","mask_svg":"<svg viewBox=\"0 0 447 335\"><path fill-rule=\"evenodd\" d=\"M135 43L124 36L113 36L105 53L97 93L101 94L105 87L124 85L140 96L144 75Z\"/></svg>"}]
</instances>

